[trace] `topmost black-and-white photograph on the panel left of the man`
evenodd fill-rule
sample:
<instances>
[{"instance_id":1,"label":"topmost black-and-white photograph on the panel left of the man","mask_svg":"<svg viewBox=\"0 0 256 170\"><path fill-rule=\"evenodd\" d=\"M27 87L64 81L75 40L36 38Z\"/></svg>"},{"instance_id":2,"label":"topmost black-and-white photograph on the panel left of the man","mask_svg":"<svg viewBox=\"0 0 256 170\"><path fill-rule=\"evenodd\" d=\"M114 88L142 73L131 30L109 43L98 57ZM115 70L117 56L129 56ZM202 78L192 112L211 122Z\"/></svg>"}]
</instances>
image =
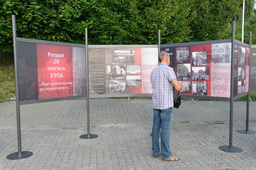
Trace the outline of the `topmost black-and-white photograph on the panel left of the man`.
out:
<instances>
[{"instance_id":1,"label":"topmost black-and-white photograph on the panel left of the man","mask_svg":"<svg viewBox=\"0 0 256 170\"><path fill-rule=\"evenodd\" d=\"M134 50L114 50L112 64L134 64Z\"/></svg>"}]
</instances>

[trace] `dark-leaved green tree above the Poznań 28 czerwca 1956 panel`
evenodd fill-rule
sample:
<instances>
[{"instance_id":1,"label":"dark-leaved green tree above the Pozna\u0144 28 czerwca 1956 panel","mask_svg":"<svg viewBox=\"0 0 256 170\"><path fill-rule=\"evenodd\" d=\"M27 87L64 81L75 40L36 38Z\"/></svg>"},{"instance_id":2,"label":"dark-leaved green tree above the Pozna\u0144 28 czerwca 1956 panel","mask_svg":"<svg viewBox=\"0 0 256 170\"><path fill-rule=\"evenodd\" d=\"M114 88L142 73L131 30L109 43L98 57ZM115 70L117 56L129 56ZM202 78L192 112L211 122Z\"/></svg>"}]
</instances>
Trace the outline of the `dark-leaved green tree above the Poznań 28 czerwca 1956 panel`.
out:
<instances>
[{"instance_id":1,"label":"dark-leaved green tree above the Pozna\u0144 28 czerwca 1956 panel","mask_svg":"<svg viewBox=\"0 0 256 170\"><path fill-rule=\"evenodd\" d=\"M64 42L84 39L90 11L86 0L0 0L0 6L0 50L12 50L11 15L16 15L17 37Z\"/></svg>"}]
</instances>

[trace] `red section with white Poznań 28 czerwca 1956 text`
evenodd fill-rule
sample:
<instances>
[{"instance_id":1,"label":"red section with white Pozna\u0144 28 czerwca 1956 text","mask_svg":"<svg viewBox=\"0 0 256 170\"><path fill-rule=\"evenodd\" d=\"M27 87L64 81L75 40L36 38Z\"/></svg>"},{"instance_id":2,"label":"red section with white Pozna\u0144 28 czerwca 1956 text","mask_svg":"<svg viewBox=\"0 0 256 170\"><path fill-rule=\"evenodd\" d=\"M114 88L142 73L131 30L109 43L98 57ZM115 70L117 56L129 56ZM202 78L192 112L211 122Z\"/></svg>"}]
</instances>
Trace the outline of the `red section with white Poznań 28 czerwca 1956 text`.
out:
<instances>
[{"instance_id":1,"label":"red section with white Pozna\u0144 28 czerwca 1956 text","mask_svg":"<svg viewBox=\"0 0 256 170\"><path fill-rule=\"evenodd\" d=\"M73 96L72 47L37 44L38 99Z\"/></svg>"}]
</instances>

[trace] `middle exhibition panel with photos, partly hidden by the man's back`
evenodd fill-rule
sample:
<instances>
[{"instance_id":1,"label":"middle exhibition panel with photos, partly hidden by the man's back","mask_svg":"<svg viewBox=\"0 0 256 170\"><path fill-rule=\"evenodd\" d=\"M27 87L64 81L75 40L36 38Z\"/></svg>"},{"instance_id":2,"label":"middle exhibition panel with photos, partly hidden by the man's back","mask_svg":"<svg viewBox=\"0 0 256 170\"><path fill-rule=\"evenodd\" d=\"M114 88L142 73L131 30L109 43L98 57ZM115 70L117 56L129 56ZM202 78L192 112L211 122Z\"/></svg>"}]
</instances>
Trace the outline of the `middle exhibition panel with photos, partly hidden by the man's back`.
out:
<instances>
[{"instance_id":1,"label":"middle exhibition panel with photos, partly hidden by the man's back","mask_svg":"<svg viewBox=\"0 0 256 170\"><path fill-rule=\"evenodd\" d=\"M157 45L88 46L90 97L151 96Z\"/></svg>"}]
</instances>

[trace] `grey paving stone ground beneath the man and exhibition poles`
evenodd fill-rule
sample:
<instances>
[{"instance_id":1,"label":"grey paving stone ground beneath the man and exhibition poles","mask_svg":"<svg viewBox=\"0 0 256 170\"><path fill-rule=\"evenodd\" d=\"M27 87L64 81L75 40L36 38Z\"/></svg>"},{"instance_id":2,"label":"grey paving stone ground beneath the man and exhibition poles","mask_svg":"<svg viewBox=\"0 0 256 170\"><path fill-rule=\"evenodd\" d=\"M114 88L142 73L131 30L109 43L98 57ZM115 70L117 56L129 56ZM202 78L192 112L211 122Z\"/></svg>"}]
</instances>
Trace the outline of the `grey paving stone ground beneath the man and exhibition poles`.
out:
<instances>
[{"instance_id":1,"label":"grey paving stone ground beneath the man and exhibition poles","mask_svg":"<svg viewBox=\"0 0 256 170\"><path fill-rule=\"evenodd\" d=\"M241 153L218 149L229 145L229 102L184 100L175 109L171 151L181 158L153 158L149 99L90 100L87 133L86 100L21 105L22 151L30 158L8 160L17 152L15 101L0 104L0 170L256 170L256 134L245 129L246 102L234 102L233 146ZM249 129L256 131L256 102L250 103Z\"/></svg>"}]
</instances>

